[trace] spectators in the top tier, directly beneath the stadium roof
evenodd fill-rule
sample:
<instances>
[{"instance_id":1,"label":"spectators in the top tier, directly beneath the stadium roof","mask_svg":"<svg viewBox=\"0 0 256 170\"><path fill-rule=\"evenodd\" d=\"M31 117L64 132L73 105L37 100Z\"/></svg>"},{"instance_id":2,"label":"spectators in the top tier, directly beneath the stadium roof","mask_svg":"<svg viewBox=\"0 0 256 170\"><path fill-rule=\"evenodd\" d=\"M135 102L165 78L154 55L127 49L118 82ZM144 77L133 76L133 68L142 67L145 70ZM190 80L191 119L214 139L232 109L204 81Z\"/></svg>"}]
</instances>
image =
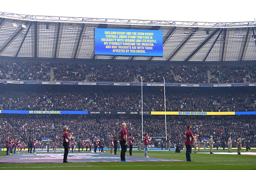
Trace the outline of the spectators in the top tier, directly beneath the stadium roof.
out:
<instances>
[{"instance_id":1,"label":"spectators in the top tier, directly beneath the stadium roof","mask_svg":"<svg viewBox=\"0 0 256 170\"><path fill-rule=\"evenodd\" d=\"M53 68L54 77L50 77ZM209 75L210 73L210 75ZM40 63L0 61L0 79L78 82L250 83L256 65L179 66L146 64Z\"/></svg>"}]
</instances>

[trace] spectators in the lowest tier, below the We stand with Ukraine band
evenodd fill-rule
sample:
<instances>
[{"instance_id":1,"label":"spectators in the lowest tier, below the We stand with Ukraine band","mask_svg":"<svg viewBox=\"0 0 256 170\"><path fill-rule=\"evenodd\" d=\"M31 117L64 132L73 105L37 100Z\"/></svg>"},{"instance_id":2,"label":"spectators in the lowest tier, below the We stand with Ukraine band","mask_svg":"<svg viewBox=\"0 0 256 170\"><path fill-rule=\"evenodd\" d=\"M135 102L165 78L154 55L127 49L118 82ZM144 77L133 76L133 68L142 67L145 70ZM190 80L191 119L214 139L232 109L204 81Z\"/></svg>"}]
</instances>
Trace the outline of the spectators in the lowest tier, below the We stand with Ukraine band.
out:
<instances>
[{"instance_id":1,"label":"spectators in the lowest tier, below the We stand with Ukraine band","mask_svg":"<svg viewBox=\"0 0 256 170\"><path fill-rule=\"evenodd\" d=\"M122 122L127 125L128 133L135 138L134 147L141 140L141 117L121 115L2 115L0 118L1 146L4 145L6 137L17 138L21 142L30 139L42 140L51 137L57 140L59 147L62 143L63 127L68 126L73 132L73 139L94 140L94 137L103 138L106 147L109 147L111 135L119 136ZM217 141L227 142L229 135L236 147L238 136L242 136L242 144L250 143L256 147L256 118L255 116L174 116L166 118L167 141L171 140L172 146L184 146L184 133L187 124L192 125L194 134L200 138L213 136L215 144ZM158 115L144 115L143 131L153 137L150 145L159 147L156 138L165 137L165 118ZM165 138L162 138L165 142ZM214 145L215 145L214 144ZM40 146L38 146L40 147ZM227 147L227 146L225 146Z\"/></svg>"}]
</instances>

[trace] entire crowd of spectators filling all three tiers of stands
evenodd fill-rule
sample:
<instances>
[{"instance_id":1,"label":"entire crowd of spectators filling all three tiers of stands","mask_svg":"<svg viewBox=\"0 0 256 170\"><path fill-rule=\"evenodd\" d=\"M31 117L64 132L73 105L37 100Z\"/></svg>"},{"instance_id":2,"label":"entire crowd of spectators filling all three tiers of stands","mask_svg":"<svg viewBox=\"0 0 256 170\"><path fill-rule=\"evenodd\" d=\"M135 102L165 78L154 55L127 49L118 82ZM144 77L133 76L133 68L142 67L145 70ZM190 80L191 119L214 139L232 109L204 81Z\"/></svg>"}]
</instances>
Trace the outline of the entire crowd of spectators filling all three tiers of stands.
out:
<instances>
[{"instance_id":1,"label":"entire crowd of spectators filling all three tiers of stands","mask_svg":"<svg viewBox=\"0 0 256 170\"><path fill-rule=\"evenodd\" d=\"M8 64L4 61L0 61L0 79L49 81L51 68L54 81L134 82L136 76L144 77L144 82L162 82L165 77L166 83L244 83L256 80L255 65L168 67L39 62ZM141 111L143 106L144 111L164 111L165 108L166 111L256 111L256 90L253 87L169 87L165 95L162 87L144 87L141 101L141 88L137 87L0 85L1 109L5 110ZM33 138L52 137L61 143L63 126L69 126L74 132L74 140L93 140L97 136L108 143L111 135L118 136L122 122L127 124L128 133L136 138L134 145L141 139L141 118L136 116L0 116L1 145L6 137L17 137L24 143ZM200 134L200 137L213 135L215 141L222 143L231 135L236 146L235 140L241 135L243 144L248 142L256 147L255 116L168 116L167 138L172 141L172 146L184 145L187 124L191 124L194 134ZM165 120L161 116L145 116L143 128L151 137L165 136ZM152 144L158 146L155 140Z\"/></svg>"}]
</instances>

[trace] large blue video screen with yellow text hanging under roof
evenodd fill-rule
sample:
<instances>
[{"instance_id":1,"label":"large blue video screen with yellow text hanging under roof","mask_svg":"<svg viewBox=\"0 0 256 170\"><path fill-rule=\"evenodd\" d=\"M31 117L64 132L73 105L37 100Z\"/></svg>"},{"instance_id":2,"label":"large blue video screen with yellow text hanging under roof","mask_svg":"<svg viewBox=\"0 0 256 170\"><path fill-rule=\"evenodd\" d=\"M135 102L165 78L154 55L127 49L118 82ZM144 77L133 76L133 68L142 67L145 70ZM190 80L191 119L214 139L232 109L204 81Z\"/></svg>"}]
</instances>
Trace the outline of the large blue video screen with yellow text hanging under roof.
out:
<instances>
[{"instance_id":1,"label":"large blue video screen with yellow text hanging under roof","mask_svg":"<svg viewBox=\"0 0 256 170\"><path fill-rule=\"evenodd\" d=\"M162 57L162 30L95 28L95 55Z\"/></svg>"}]
</instances>

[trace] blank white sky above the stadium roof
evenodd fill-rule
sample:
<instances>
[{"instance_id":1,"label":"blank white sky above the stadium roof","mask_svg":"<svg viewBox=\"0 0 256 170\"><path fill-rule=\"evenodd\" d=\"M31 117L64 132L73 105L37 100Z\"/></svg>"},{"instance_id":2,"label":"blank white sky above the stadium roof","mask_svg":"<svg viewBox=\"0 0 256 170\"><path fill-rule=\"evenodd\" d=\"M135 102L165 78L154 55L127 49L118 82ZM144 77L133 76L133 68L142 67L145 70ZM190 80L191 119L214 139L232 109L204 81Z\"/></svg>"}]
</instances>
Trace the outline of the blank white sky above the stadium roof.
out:
<instances>
[{"instance_id":1,"label":"blank white sky above the stadium roof","mask_svg":"<svg viewBox=\"0 0 256 170\"><path fill-rule=\"evenodd\" d=\"M256 0L0 0L0 12L85 18L242 22Z\"/></svg>"}]
</instances>

